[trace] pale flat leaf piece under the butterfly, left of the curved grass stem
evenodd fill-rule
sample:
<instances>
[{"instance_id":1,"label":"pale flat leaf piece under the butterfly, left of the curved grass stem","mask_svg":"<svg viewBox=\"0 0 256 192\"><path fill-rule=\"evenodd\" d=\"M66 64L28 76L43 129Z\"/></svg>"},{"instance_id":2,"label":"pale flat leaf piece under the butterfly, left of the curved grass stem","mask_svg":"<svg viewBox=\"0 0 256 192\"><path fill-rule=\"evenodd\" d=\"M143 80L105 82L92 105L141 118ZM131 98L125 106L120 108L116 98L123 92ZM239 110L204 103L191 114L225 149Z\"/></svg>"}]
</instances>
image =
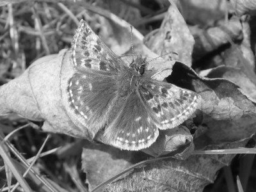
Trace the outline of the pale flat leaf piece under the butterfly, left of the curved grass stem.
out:
<instances>
[{"instance_id":1,"label":"pale flat leaf piece under the butterfly, left of the curved grass stem","mask_svg":"<svg viewBox=\"0 0 256 192\"><path fill-rule=\"evenodd\" d=\"M131 166L135 152L121 151L108 145L86 142L82 153L82 169L86 173L89 189Z\"/></svg>"}]
</instances>

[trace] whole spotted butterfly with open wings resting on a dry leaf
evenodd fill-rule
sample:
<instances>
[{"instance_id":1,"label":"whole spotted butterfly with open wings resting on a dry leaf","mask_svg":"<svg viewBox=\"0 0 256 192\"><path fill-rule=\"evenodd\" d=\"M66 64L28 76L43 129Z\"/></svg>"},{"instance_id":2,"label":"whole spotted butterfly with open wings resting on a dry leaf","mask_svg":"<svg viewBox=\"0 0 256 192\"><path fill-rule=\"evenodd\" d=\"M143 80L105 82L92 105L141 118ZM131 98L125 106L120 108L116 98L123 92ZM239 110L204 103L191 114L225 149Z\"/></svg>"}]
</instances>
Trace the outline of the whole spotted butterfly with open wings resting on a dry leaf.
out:
<instances>
[{"instance_id":1,"label":"whole spotted butterfly with open wings resting on a dry leaf","mask_svg":"<svg viewBox=\"0 0 256 192\"><path fill-rule=\"evenodd\" d=\"M75 69L68 80L68 108L79 123L98 132L110 145L140 150L152 145L159 129L172 129L200 105L200 95L151 78L147 58L129 66L81 20L70 49Z\"/></svg>"}]
</instances>

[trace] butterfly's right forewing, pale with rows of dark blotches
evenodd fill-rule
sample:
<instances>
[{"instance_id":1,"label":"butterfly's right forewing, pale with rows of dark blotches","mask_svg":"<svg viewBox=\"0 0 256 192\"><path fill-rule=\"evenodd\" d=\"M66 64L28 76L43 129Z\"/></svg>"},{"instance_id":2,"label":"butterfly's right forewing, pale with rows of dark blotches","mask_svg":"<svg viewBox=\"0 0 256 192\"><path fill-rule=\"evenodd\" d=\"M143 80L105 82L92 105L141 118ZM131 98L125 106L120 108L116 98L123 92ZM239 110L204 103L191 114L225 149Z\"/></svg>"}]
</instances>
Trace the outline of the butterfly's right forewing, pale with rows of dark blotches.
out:
<instances>
[{"instance_id":1,"label":"butterfly's right forewing, pale with rows of dark blotches","mask_svg":"<svg viewBox=\"0 0 256 192\"><path fill-rule=\"evenodd\" d=\"M182 124L200 105L200 95L195 92L153 79L143 80L140 95L159 129Z\"/></svg>"}]
</instances>

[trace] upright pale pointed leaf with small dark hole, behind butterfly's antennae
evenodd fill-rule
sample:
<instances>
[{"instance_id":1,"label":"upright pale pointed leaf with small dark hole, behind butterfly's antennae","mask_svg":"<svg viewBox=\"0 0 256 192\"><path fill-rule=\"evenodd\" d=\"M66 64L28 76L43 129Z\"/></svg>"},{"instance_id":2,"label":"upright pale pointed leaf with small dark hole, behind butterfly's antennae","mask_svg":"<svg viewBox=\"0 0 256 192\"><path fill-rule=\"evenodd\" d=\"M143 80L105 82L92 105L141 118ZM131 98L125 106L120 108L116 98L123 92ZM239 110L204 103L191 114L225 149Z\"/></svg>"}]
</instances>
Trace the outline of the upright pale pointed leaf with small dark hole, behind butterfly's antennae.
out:
<instances>
[{"instance_id":1,"label":"upright pale pointed leaf with small dark hole, behind butterfly's antennae","mask_svg":"<svg viewBox=\"0 0 256 192\"><path fill-rule=\"evenodd\" d=\"M166 52L177 52L178 56L168 54L163 58L168 60L171 57L172 60L179 60L191 66L191 53L195 40L175 4L168 8L161 28L145 36L144 42L147 47L159 55Z\"/></svg>"}]
</instances>

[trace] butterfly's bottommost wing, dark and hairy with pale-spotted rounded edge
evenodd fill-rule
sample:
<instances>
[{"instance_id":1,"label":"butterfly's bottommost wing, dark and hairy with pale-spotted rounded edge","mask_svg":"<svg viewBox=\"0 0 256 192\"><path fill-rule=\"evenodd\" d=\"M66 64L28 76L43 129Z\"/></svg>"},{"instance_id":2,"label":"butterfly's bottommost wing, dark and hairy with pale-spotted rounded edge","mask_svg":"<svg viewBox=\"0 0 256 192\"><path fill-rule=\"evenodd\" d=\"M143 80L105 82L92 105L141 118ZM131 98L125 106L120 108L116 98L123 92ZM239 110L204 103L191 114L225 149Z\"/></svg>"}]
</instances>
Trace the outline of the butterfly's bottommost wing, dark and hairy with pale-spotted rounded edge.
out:
<instances>
[{"instance_id":1,"label":"butterfly's bottommost wing, dark and hairy with pale-spotted rounded edge","mask_svg":"<svg viewBox=\"0 0 256 192\"><path fill-rule=\"evenodd\" d=\"M115 118L105 129L105 136L115 147L125 150L147 148L156 141L159 131L152 124L147 108L136 92L127 96L121 108L113 114ZM112 113L113 113L112 111Z\"/></svg>"}]
</instances>

